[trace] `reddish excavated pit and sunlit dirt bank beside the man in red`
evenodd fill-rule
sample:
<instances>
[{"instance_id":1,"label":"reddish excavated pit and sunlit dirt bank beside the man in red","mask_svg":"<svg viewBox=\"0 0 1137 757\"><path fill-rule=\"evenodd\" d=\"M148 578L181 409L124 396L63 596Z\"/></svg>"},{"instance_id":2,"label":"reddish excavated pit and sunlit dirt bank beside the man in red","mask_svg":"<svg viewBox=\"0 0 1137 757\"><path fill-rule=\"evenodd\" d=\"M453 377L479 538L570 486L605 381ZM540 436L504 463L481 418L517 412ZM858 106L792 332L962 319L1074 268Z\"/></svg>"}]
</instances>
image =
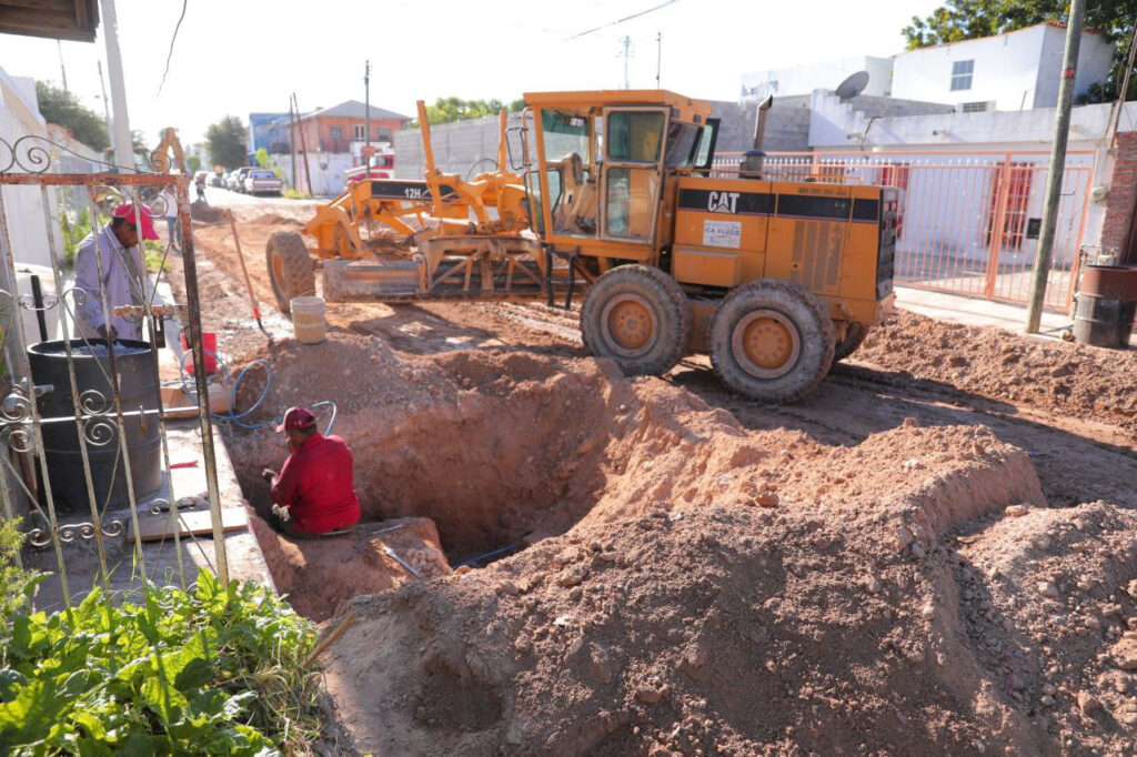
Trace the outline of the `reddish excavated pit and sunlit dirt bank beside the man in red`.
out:
<instances>
[{"instance_id":1,"label":"reddish excavated pit and sunlit dirt bank beside the man in red","mask_svg":"<svg viewBox=\"0 0 1137 757\"><path fill-rule=\"evenodd\" d=\"M981 430L901 429L832 448L799 432L748 432L683 390L629 381L606 361L482 350L415 357L339 333L318 346L277 343L259 357L274 369L265 407L335 401L333 433L355 455L364 522L356 534L296 542L263 522L255 526L277 588L317 618L351 596L406 580L384 547L418 563L425 555L425 573L438 575L581 522L615 523L657 508L781 500L782 508L824 511L891 491L897 474L877 468L895 465L914 442L929 457L899 476L936 468L919 505L927 529L949 529L999 502L1043 500L1026 455ZM250 381L239 402L260 389ZM283 460L280 436L230 431L229 441L247 499L264 508L259 474ZM987 448L1002 451L976 451ZM374 533L393 518L418 521Z\"/></svg>"}]
</instances>

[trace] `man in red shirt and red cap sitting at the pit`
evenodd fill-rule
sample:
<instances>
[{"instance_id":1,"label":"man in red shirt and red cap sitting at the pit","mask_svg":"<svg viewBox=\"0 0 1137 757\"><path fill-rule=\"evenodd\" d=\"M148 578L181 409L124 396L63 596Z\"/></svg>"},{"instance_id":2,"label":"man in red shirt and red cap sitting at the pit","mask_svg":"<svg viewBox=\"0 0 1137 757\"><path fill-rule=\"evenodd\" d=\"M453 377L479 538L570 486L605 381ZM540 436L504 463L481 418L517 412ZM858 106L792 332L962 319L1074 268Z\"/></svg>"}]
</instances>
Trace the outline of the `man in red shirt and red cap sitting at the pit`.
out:
<instances>
[{"instance_id":1,"label":"man in red shirt and red cap sitting at the pit","mask_svg":"<svg viewBox=\"0 0 1137 757\"><path fill-rule=\"evenodd\" d=\"M291 454L280 474L265 468L272 486L272 522L294 536L347 533L359 522L359 498L351 482L351 451L339 436L316 431L316 416L289 408L276 431L288 434Z\"/></svg>"}]
</instances>

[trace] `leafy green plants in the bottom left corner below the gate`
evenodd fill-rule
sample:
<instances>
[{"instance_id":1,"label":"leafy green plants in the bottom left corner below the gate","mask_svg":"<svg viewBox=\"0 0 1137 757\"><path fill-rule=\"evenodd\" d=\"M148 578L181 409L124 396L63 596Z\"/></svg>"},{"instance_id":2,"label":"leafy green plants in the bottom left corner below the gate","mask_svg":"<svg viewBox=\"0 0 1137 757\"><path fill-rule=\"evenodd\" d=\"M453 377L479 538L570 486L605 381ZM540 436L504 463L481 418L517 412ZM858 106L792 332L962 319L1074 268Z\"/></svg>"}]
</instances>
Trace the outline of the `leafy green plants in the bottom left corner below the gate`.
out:
<instances>
[{"instance_id":1,"label":"leafy green plants in the bottom left corner below the gate","mask_svg":"<svg viewBox=\"0 0 1137 757\"><path fill-rule=\"evenodd\" d=\"M18 583L18 582L17 582ZM318 735L312 624L255 583L98 588L17 610L0 646L0 754L302 754Z\"/></svg>"}]
</instances>

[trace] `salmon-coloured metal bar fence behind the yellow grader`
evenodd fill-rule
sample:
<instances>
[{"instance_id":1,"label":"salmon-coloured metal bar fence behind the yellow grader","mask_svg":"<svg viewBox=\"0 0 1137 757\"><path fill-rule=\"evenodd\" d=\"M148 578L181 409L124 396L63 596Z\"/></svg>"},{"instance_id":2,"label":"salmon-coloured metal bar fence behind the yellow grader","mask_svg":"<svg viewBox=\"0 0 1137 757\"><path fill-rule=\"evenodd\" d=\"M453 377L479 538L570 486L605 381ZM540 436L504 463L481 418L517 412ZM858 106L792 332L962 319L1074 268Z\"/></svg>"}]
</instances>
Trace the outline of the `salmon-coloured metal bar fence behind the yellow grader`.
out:
<instances>
[{"instance_id":1,"label":"salmon-coloured metal bar fence behind the yellow grader","mask_svg":"<svg viewBox=\"0 0 1137 757\"><path fill-rule=\"evenodd\" d=\"M737 173L740 153L715 159ZM1049 174L1043 151L772 152L772 180L887 184L902 190L896 281L906 286L1024 303ZM1089 190L1093 151L1071 150L1062 174L1046 307L1069 309Z\"/></svg>"}]
</instances>

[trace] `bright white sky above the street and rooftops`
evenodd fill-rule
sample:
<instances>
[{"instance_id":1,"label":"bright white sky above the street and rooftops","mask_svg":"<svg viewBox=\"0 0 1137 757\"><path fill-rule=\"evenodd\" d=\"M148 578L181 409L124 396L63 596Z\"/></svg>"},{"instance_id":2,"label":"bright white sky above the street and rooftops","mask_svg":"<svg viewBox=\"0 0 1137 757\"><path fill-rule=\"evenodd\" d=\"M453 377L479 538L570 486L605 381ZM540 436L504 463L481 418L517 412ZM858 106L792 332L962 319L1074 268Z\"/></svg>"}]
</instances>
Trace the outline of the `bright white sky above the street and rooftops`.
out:
<instances>
[{"instance_id":1,"label":"bright white sky above the street and rooftops","mask_svg":"<svg viewBox=\"0 0 1137 757\"><path fill-rule=\"evenodd\" d=\"M747 72L901 52L901 30L939 5L117 0L116 8L131 128L152 145L166 126L190 144L227 115L248 123L249 113L287 113L293 92L304 111L363 101L366 60L371 103L408 117L420 99L508 102L524 92L621 89L624 38L632 89L656 86L658 70L664 89L738 100ZM0 34L0 67L9 76L57 86L66 70L67 88L102 115L98 61L103 75L108 70L102 28L100 20L93 43Z\"/></svg>"}]
</instances>

